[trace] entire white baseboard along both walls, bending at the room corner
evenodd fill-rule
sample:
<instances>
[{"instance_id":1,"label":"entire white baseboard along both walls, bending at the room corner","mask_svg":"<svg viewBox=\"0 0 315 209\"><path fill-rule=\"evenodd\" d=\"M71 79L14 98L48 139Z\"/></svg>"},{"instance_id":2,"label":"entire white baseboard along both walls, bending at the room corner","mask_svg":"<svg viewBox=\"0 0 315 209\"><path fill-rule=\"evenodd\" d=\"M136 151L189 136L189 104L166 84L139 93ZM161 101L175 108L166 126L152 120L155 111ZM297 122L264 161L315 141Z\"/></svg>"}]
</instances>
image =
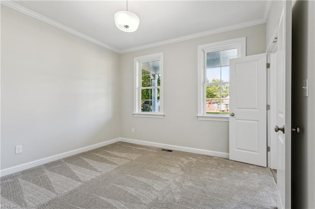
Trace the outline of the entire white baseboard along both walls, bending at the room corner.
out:
<instances>
[{"instance_id":1,"label":"entire white baseboard along both walls, bending at the room corner","mask_svg":"<svg viewBox=\"0 0 315 209\"><path fill-rule=\"evenodd\" d=\"M83 153L89 150L93 150L102 146L106 146L115 142L129 142L132 144L139 144L139 145L146 145L146 146L152 146L152 147L160 147L164 149L169 149L169 150L178 150L178 151L183 151L183 152L188 152L188 153L195 153L195 154L202 154L202 155L207 155L207 156L215 156L215 157L224 157L224 158L229 158L228 153L222 153L222 152L216 152L216 151L211 151L211 150L201 150L201 149L195 149L195 148L189 148L189 147L181 147L181 146L176 146L176 145L169 145L169 144L161 144L161 143L156 143L156 142L149 142L149 141L141 141L141 140L135 140L135 139L128 139L128 138L116 138L112 139L109 141L101 142L98 144L90 145L87 147L79 148L76 150L71 150L65 153L61 153L55 156L51 157L45 157L42 159L34 160L32 162L27 162L21 165L16 165L10 168L2 169L0 170L0 177L6 176L12 173L16 173L19 171L23 171L38 165L42 165L48 162L52 162L58 159L62 159L64 157L69 157L73 156L79 153Z\"/></svg>"}]
</instances>

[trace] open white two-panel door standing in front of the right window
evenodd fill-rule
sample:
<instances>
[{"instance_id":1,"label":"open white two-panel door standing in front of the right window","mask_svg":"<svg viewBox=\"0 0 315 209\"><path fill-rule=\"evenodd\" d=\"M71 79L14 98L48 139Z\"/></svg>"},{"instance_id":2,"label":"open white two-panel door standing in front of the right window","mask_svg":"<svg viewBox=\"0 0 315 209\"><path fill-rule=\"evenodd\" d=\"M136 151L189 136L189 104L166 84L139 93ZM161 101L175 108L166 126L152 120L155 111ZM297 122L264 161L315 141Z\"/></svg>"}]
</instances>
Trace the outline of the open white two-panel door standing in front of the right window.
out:
<instances>
[{"instance_id":1,"label":"open white two-panel door standing in front of the right window","mask_svg":"<svg viewBox=\"0 0 315 209\"><path fill-rule=\"evenodd\" d=\"M229 158L267 166L266 54L230 59Z\"/></svg>"}]
</instances>

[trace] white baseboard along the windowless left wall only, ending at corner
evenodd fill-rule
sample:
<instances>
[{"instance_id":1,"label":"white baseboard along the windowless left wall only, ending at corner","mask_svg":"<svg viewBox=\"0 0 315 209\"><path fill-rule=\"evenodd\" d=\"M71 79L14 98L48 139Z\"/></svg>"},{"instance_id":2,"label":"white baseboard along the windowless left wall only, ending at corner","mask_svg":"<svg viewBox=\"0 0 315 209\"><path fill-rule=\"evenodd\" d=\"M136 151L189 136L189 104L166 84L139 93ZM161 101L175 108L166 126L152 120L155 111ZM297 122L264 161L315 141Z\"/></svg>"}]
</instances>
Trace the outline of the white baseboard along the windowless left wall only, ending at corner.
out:
<instances>
[{"instance_id":1,"label":"white baseboard along the windowless left wall only, ending at corner","mask_svg":"<svg viewBox=\"0 0 315 209\"><path fill-rule=\"evenodd\" d=\"M96 149L96 148L99 148L99 147L102 147L102 146L105 146L105 145L109 145L109 144L112 144L112 143L115 143L115 142L118 142L118 141L120 141L120 138L112 139L112 140L109 140L109 141L104 141L104 142L101 142L101 143L98 143L98 144L90 145L90 146L79 148L79 149L76 149L76 150L71 150L71 151L68 151L68 152L65 152L65 153L61 153L61 154L58 154L58 155L55 155L55 156L45 157L45 158L42 158L42 159L34 160L32 162L27 162L27 163L24 163L24 164L21 164L21 165L16 165L16 166L13 166L13 167L10 167L10 168L2 169L2 170L0 170L0 176L2 177L2 176L6 176L6 175L9 175L9 174L15 173L15 172L23 171L25 169L29 169L29 168L32 168L32 167L35 167L35 166L38 166L38 165L42 165L42 164L45 164L45 163L48 163L48 162L52 162L52 161L64 158L64 157L69 157L69 156L73 156L73 155L76 155L76 154L79 154L79 153L83 153L83 152L86 152L86 151L89 151L89 150L93 150L93 149Z\"/></svg>"}]
</instances>

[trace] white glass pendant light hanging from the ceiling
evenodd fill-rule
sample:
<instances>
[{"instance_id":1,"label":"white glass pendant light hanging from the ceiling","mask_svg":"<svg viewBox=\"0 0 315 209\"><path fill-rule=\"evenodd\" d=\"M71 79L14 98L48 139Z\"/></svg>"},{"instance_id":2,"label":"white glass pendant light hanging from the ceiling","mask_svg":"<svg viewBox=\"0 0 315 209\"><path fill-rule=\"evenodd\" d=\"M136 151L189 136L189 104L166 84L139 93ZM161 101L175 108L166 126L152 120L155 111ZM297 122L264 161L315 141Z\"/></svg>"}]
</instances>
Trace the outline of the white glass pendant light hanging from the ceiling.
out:
<instances>
[{"instance_id":1,"label":"white glass pendant light hanging from the ceiling","mask_svg":"<svg viewBox=\"0 0 315 209\"><path fill-rule=\"evenodd\" d=\"M134 32L138 29L139 22L138 16L128 11L128 0L126 0L126 11L115 14L116 26L125 32Z\"/></svg>"}]
</instances>

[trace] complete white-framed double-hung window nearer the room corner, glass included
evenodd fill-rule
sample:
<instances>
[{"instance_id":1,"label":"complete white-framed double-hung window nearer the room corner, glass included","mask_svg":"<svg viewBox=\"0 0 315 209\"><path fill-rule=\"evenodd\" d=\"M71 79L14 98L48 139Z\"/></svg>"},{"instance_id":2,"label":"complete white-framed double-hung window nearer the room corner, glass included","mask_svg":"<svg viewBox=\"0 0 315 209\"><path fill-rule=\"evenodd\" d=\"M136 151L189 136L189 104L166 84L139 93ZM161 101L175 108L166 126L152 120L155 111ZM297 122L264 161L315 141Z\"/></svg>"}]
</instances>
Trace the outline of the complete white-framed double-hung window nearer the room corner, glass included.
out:
<instances>
[{"instance_id":1,"label":"complete white-framed double-hung window nearer the room corner, glass included","mask_svg":"<svg viewBox=\"0 0 315 209\"><path fill-rule=\"evenodd\" d=\"M163 53L134 58L135 117L163 118Z\"/></svg>"}]
</instances>

